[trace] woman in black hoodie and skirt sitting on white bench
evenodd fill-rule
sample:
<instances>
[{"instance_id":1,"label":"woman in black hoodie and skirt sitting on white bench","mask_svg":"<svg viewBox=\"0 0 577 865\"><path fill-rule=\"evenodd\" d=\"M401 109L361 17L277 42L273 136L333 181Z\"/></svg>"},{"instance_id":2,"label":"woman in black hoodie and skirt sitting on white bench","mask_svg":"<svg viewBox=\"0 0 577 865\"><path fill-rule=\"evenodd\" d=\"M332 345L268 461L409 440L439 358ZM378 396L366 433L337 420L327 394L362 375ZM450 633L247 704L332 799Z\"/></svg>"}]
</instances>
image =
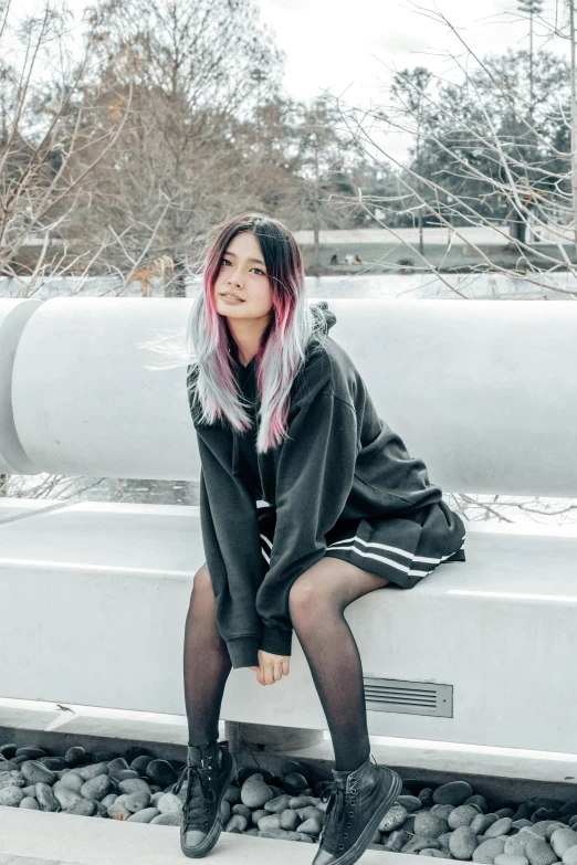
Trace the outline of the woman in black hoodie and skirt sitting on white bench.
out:
<instances>
[{"instance_id":1,"label":"woman in black hoodie and skirt sitting on white bench","mask_svg":"<svg viewBox=\"0 0 577 865\"><path fill-rule=\"evenodd\" d=\"M288 675L293 629L335 750L314 865L357 862L400 792L399 776L370 759L363 668L343 612L464 560L464 525L377 416L328 336L335 321L326 303L307 305L301 253L282 223L249 213L218 226L189 328L207 561L185 634L189 748L175 791L188 774L187 856L217 843L235 772L218 743L227 677L240 667L261 685Z\"/></svg>"}]
</instances>

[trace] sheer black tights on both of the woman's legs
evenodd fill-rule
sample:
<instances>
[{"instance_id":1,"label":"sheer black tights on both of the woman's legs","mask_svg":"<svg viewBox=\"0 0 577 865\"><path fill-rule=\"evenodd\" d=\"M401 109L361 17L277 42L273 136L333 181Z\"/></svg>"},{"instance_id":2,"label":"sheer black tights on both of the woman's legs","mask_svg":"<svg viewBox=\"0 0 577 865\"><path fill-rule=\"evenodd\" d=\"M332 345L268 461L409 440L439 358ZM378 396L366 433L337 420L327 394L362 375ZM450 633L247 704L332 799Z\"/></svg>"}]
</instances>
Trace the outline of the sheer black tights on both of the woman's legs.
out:
<instances>
[{"instance_id":1,"label":"sheer black tights on both of the woman's legs","mask_svg":"<svg viewBox=\"0 0 577 865\"><path fill-rule=\"evenodd\" d=\"M331 563L336 565L334 558L324 560L328 569ZM303 574L296 580L290 597L291 619L325 711L335 768L352 771L365 762L370 743L360 655L343 612L370 589L365 583L363 591L357 583L355 590L350 576L345 580L326 579L327 567L314 577ZM386 584L380 578L374 580L373 589ZM189 745L218 738L222 695L231 668L227 644L217 630L214 595L204 567L195 582L185 633Z\"/></svg>"}]
</instances>

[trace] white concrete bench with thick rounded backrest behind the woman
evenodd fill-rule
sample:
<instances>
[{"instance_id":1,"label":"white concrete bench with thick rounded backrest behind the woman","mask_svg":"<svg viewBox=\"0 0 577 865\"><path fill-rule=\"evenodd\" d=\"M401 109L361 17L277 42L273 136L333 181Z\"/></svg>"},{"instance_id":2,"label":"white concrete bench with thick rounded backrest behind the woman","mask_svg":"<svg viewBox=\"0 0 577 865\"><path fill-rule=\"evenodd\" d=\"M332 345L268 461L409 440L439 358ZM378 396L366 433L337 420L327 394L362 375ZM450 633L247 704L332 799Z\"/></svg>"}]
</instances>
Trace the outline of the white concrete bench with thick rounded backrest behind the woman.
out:
<instances>
[{"instance_id":1,"label":"white concrete bench with thick rounded backrest behind the woman","mask_svg":"<svg viewBox=\"0 0 577 865\"><path fill-rule=\"evenodd\" d=\"M576 495L574 305L329 307L380 416L443 490ZM156 328L182 333L189 309L0 300L0 473L198 477L185 375L147 370L156 358L137 347ZM369 731L429 741L422 767L439 764L436 742L576 760L577 532L466 528L465 562L346 611ZM202 561L196 507L0 499L0 697L185 715L183 626ZM231 673L221 717L326 728L296 636L274 687ZM526 761L515 766L523 777Z\"/></svg>"}]
</instances>

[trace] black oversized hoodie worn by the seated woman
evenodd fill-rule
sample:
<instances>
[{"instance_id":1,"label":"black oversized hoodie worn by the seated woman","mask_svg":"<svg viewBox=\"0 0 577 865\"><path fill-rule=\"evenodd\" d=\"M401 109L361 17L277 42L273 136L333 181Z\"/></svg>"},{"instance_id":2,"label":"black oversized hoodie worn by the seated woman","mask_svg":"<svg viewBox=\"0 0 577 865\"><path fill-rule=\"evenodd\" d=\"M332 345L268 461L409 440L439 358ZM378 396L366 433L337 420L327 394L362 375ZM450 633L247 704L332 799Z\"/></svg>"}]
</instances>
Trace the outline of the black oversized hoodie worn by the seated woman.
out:
<instances>
[{"instance_id":1,"label":"black oversized hoodie worn by the seated woman","mask_svg":"<svg viewBox=\"0 0 577 865\"><path fill-rule=\"evenodd\" d=\"M312 306L327 329L336 317ZM258 394L255 359L239 386ZM188 368L192 384L196 365ZM403 516L439 502L420 458L378 418L352 359L331 336L312 344L291 390L287 434L277 447L255 452L255 431L228 423L200 425L190 410L201 460L200 520L217 625L233 668L258 666L258 650L290 655L288 593L326 551L325 535L339 519ZM261 551L258 499L275 506L269 570Z\"/></svg>"}]
</instances>

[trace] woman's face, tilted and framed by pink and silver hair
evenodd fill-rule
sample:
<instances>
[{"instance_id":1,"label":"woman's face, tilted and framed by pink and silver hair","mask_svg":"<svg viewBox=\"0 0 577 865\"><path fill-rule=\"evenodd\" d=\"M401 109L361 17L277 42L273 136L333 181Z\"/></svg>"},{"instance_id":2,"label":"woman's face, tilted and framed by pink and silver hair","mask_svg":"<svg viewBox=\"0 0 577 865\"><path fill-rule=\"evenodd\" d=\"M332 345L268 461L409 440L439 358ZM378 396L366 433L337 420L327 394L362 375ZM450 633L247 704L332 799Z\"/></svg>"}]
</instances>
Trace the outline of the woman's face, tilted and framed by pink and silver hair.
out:
<instances>
[{"instance_id":1,"label":"woman's face, tilted and framed by pink and silver hair","mask_svg":"<svg viewBox=\"0 0 577 865\"><path fill-rule=\"evenodd\" d=\"M240 300L229 300L230 292ZM214 283L217 312L230 318L267 317L272 309L272 292L266 266L254 234L243 231L228 244Z\"/></svg>"}]
</instances>

